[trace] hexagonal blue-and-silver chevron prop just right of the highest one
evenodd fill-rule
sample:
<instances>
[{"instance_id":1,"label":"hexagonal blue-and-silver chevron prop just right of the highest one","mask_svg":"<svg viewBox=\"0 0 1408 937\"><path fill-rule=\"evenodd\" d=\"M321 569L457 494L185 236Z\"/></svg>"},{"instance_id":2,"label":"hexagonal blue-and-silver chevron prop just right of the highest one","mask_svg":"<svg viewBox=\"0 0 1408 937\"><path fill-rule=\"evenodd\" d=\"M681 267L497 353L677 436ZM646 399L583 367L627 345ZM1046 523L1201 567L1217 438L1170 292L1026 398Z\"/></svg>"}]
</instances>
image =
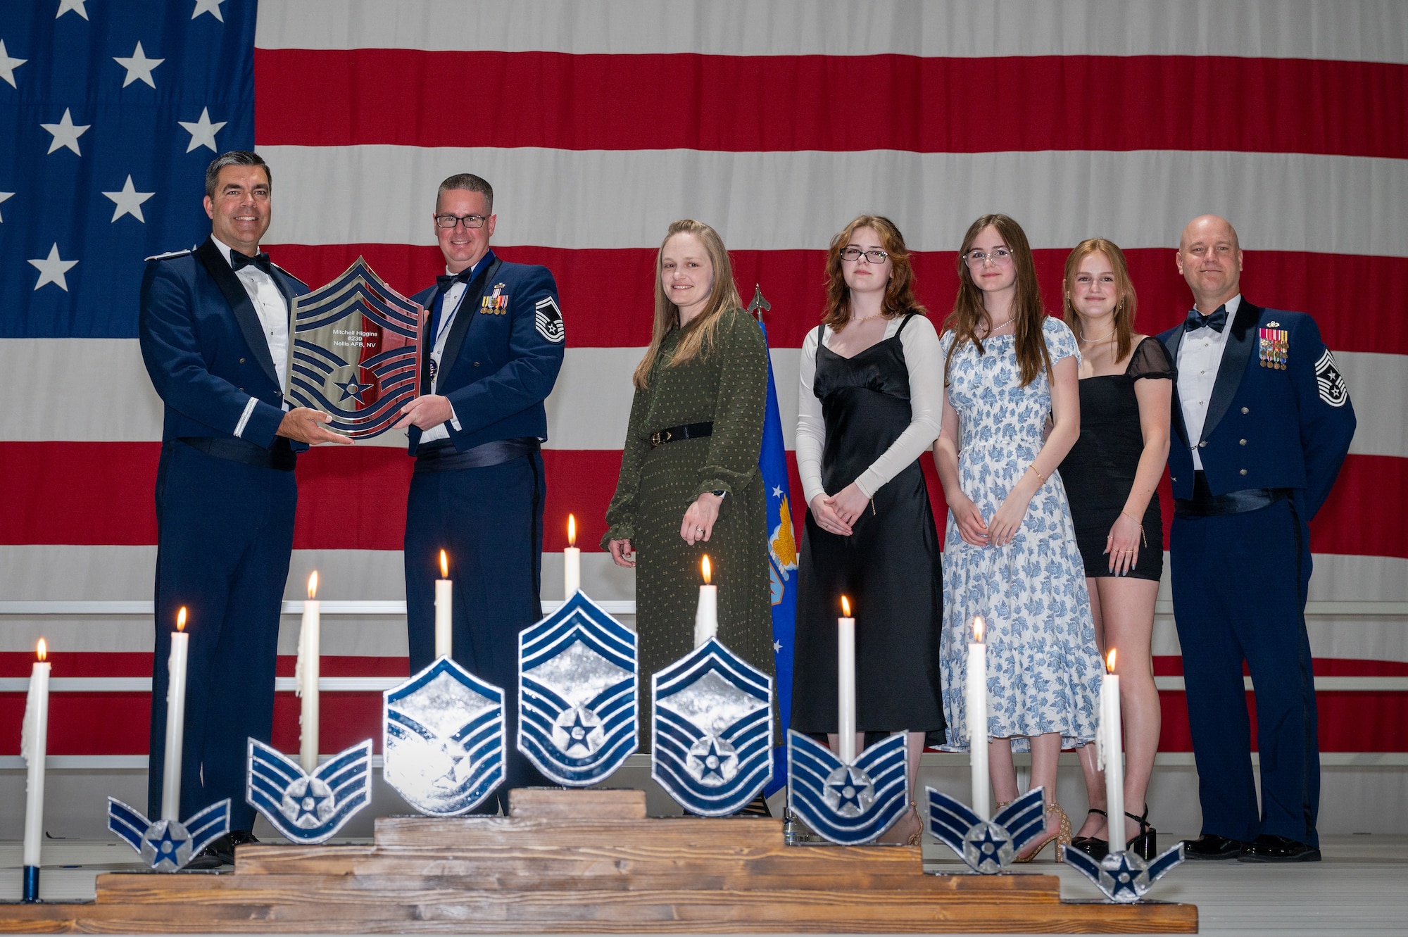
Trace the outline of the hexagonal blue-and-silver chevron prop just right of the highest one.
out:
<instances>
[{"instance_id":1,"label":"hexagonal blue-and-silver chevron prop just right of the highest one","mask_svg":"<svg viewBox=\"0 0 1408 937\"><path fill-rule=\"evenodd\" d=\"M650 777L700 816L741 810L773 777L773 681L711 637L652 680Z\"/></svg>"}]
</instances>

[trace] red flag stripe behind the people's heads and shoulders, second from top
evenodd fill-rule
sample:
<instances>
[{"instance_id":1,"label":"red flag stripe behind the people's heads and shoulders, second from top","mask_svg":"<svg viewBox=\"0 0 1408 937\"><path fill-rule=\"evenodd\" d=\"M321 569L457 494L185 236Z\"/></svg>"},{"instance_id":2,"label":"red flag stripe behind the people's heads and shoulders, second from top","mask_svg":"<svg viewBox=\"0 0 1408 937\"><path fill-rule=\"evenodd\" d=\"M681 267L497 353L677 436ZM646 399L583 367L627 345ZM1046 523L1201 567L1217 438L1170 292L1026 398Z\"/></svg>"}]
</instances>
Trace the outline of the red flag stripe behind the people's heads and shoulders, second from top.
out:
<instances>
[{"instance_id":1,"label":"red flag stripe behind the people's heads and shoulders, second from top","mask_svg":"<svg viewBox=\"0 0 1408 937\"><path fill-rule=\"evenodd\" d=\"M962 232L955 232L955 241ZM1174 236L1176 232L1170 232ZM505 260L541 263L552 270L562 298L570 348L645 348L650 343L655 308L655 250L569 250L560 248L496 248ZM445 272L439 249L407 245L280 245L275 260L307 283L329 283L365 256L394 288L410 295ZM1060 308L1062 276L1069 250L1038 250L1036 272L1049 310ZM1173 248L1128 250L1129 273L1139 297L1138 326L1157 333L1183 321L1193 304L1174 267ZM825 252L731 250L734 280L748 301L753 286L773 308L765 314L773 348L801 348L821 322L825 298ZM917 293L938 326L957 293L955 256L912 255ZM1325 276L1333 269L1335 276ZM603 272L610 272L605 276ZM603 288L603 281L610 281ZM1353 283L1354 290L1343 288ZM1247 298L1278 310L1315 317L1326 345L1338 352L1408 355L1408 318L1384 311L1408 295L1408 257L1364 257L1325 253L1252 250L1242 284ZM1369 311L1369 314L1366 314Z\"/></svg>"}]
</instances>

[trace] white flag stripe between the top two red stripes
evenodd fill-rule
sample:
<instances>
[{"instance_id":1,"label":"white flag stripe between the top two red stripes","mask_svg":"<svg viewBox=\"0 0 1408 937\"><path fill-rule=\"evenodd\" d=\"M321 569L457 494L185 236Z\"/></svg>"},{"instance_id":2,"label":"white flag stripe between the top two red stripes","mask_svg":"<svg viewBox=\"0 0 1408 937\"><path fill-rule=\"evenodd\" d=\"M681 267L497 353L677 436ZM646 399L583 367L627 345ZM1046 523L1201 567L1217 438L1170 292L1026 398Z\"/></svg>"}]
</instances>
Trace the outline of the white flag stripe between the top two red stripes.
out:
<instances>
[{"instance_id":1,"label":"white flag stripe between the top two red stripes","mask_svg":"<svg viewBox=\"0 0 1408 937\"><path fill-rule=\"evenodd\" d=\"M1408 160L1398 159L390 145L260 153L280 177L269 243L432 245L435 187L472 170L494 184L500 245L655 248L676 218L700 218L734 250L822 250L873 211L893 218L912 250L956 250L973 218L1004 211L1033 248L1100 234L1131 249L1176 246L1191 218L1214 212L1247 249L1408 256Z\"/></svg>"}]
</instances>

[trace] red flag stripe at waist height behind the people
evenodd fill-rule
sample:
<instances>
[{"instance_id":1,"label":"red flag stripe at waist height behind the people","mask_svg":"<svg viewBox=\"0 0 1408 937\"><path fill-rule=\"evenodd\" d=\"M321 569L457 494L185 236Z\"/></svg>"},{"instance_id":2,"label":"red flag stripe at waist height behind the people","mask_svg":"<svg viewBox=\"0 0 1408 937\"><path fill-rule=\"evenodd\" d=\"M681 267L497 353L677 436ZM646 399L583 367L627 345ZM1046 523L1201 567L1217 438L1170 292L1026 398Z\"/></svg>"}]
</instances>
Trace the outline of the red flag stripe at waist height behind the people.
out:
<instances>
[{"instance_id":1,"label":"red flag stripe at waist height behind the people","mask_svg":"<svg viewBox=\"0 0 1408 937\"><path fill-rule=\"evenodd\" d=\"M159 443L0 442L0 543L151 544ZM567 512L577 515L577 544L596 550L615 492L621 453L546 449L543 549L567 544ZM788 453L790 471L796 473ZM932 460L922 459L935 522L943 532L942 491ZM298 457L294 546L321 550L400 550L411 459L400 449L320 447ZM801 487L791 476L796 521ZM1164 505L1164 522L1171 512ZM1311 525L1316 553L1408 557L1408 459L1349 456L1325 508Z\"/></svg>"}]
</instances>

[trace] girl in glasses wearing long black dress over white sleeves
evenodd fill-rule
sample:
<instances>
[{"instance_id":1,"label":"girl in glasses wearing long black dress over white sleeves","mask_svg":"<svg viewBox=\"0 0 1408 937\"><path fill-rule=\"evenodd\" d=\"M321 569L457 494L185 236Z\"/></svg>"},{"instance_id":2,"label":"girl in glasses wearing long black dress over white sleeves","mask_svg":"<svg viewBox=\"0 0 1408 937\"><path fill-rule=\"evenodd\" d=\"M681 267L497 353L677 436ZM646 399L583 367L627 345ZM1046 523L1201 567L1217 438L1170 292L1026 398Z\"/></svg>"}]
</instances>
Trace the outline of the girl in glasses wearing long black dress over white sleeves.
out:
<instances>
[{"instance_id":1,"label":"girl in glasses wearing long black dress over white sleeves","mask_svg":"<svg viewBox=\"0 0 1408 937\"><path fill-rule=\"evenodd\" d=\"M807 525L791 727L836 746L836 618L855 604L857 734L908 732L910 789L943 736L939 537L919 457L939 435L939 336L904 238L862 215L826 256L826 315L803 343L797 468ZM862 750L856 746L856 751ZM912 805L881 841L919 841Z\"/></svg>"}]
</instances>

